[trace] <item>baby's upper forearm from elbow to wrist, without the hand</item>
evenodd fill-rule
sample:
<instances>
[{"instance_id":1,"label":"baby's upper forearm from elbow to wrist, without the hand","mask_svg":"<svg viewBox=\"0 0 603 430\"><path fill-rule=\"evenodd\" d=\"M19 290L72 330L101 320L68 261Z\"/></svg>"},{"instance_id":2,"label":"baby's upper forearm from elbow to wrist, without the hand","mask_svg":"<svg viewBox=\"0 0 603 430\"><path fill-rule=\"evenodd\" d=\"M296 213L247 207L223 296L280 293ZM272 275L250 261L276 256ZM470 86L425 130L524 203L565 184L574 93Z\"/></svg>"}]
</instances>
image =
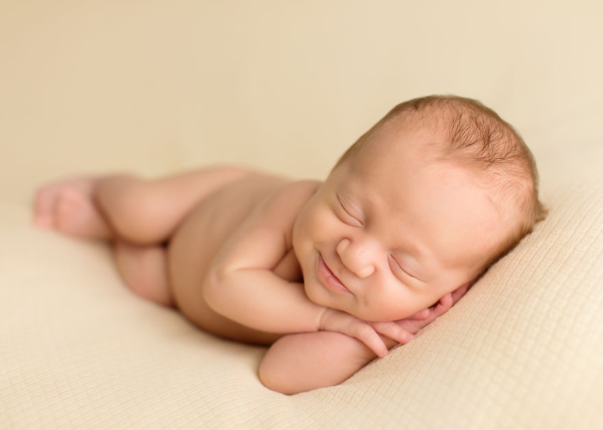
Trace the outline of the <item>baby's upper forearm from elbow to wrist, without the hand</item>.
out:
<instances>
[{"instance_id":1,"label":"baby's upper forearm from elbow to wrist, without the hand","mask_svg":"<svg viewBox=\"0 0 603 430\"><path fill-rule=\"evenodd\" d=\"M317 331L325 308L312 303L302 283L265 269L239 269L214 275L204 286L214 311L237 323L272 333Z\"/></svg>"}]
</instances>

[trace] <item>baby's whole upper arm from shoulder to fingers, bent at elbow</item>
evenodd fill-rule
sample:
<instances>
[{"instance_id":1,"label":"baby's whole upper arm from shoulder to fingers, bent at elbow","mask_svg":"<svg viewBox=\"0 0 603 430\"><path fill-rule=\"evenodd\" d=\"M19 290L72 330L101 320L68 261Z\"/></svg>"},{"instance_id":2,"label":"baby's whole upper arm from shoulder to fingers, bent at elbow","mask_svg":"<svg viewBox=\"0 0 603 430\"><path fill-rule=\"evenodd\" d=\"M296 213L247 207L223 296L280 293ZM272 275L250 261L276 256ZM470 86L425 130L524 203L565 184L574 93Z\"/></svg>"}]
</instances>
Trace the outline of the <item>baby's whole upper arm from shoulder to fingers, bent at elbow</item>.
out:
<instances>
[{"instance_id":1,"label":"baby's whole upper arm from shoulder to fingers, bent at elbow","mask_svg":"<svg viewBox=\"0 0 603 430\"><path fill-rule=\"evenodd\" d=\"M369 324L345 312L319 306L308 299L302 283L275 273L293 252L293 222L310 197L308 187L303 187L299 183L290 185L260 203L256 212L232 233L210 267L203 286L204 299L215 312L247 327L272 333L339 331L362 340L378 355L386 355L378 333L408 342L411 336L402 327L393 323Z\"/></svg>"}]
</instances>

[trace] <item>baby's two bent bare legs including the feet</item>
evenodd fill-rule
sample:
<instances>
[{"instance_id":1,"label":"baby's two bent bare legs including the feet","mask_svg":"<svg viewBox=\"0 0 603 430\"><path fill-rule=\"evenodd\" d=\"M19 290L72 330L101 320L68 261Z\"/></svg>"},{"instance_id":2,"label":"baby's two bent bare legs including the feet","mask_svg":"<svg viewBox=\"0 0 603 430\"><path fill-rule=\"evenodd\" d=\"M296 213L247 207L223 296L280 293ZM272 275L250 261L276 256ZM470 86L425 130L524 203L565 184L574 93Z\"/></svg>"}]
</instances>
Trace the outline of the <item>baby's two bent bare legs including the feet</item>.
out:
<instances>
[{"instance_id":1,"label":"baby's two bent bare legs including the feet","mask_svg":"<svg viewBox=\"0 0 603 430\"><path fill-rule=\"evenodd\" d=\"M208 168L156 180L74 177L38 190L34 222L69 236L109 240L127 286L172 306L164 245L199 201L244 173Z\"/></svg>"}]
</instances>

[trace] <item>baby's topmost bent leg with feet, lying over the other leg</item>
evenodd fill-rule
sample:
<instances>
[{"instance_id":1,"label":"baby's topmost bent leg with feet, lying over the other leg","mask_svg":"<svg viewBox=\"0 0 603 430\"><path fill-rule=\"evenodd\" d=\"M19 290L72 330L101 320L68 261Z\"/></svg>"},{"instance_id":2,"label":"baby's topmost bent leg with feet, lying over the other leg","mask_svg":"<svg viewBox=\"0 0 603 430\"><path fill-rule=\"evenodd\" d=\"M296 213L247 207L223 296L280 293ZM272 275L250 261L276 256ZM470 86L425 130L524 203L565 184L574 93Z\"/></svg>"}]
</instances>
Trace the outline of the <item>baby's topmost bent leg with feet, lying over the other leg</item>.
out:
<instances>
[{"instance_id":1,"label":"baby's topmost bent leg with feet, lying over the other leg","mask_svg":"<svg viewBox=\"0 0 603 430\"><path fill-rule=\"evenodd\" d=\"M217 167L153 180L110 175L56 181L36 193L34 222L71 236L161 244L199 201L245 173Z\"/></svg>"}]
</instances>

